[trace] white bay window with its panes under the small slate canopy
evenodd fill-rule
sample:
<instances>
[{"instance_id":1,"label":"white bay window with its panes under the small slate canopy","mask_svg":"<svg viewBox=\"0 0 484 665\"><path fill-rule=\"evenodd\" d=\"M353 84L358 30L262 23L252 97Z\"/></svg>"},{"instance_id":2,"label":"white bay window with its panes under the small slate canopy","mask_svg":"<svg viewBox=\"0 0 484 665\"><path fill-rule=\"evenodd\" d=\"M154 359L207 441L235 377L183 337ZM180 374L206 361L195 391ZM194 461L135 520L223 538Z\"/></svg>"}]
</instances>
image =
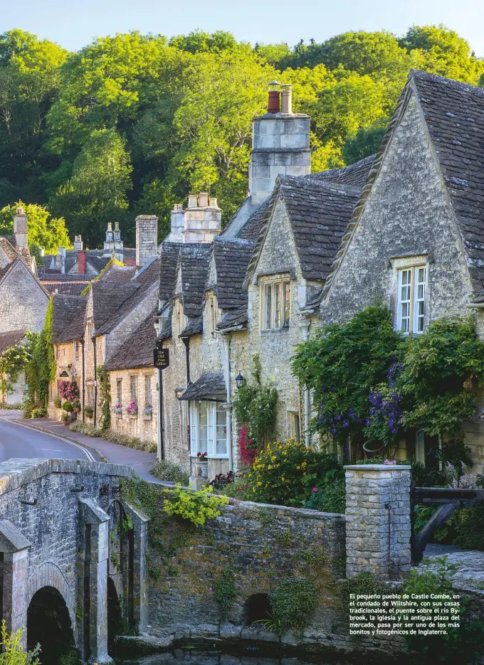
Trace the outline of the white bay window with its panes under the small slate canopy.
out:
<instances>
[{"instance_id":1,"label":"white bay window with its panes under the small slate canopy","mask_svg":"<svg viewBox=\"0 0 484 665\"><path fill-rule=\"evenodd\" d=\"M228 457L227 412L220 402L190 402L190 452Z\"/></svg>"}]
</instances>

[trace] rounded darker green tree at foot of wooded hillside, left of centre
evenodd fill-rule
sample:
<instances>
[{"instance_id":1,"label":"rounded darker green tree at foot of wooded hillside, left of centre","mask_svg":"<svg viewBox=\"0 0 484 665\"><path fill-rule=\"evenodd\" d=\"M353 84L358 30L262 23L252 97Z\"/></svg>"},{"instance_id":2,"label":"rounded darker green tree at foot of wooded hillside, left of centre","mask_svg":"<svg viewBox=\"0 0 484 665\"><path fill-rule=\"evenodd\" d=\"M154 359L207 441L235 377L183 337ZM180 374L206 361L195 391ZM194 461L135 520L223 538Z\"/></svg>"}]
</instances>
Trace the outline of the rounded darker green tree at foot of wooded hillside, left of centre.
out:
<instances>
[{"instance_id":1,"label":"rounded darker green tree at foot of wooded hillside, left of centre","mask_svg":"<svg viewBox=\"0 0 484 665\"><path fill-rule=\"evenodd\" d=\"M125 141L115 129L97 129L76 157L73 175L49 203L64 214L71 233L83 233L88 245L100 243L107 222L125 220L132 166Z\"/></svg>"}]
</instances>

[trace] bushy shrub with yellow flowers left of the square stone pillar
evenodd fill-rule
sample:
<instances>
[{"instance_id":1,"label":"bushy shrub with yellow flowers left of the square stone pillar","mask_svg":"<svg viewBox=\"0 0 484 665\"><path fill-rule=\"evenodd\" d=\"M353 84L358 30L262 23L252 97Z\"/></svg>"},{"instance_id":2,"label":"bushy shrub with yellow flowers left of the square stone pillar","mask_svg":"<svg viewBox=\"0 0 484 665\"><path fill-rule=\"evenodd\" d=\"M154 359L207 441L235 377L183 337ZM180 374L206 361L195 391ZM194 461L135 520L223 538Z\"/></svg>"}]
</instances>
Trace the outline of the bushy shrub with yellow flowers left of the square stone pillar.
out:
<instances>
[{"instance_id":1,"label":"bushy shrub with yellow flowers left of the square stone pillar","mask_svg":"<svg viewBox=\"0 0 484 665\"><path fill-rule=\"evenodd\" d=\"M302 505L319 484L344 477L335 455L288 440L269 443L247 474L253 501L282 506Z\"/></svg>"}]
</instances>

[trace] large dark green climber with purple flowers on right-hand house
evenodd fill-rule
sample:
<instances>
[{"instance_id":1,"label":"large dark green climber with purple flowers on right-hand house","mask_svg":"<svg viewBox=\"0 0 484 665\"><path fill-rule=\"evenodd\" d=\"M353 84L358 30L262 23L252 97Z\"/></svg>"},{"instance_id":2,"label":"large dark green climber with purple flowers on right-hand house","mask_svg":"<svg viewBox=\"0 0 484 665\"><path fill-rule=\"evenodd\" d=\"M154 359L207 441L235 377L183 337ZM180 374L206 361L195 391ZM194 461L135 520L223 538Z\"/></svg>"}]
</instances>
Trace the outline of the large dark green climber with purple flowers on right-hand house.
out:
<instances>
[{"instance_id":1,"label":"large dark green climber with purple flowers on right-hand house","mask_svg":"<svg viewBox=\"0 0 484 665\"><path fill-rule=\"evenodd\" d=\"M404 338L377 304L300 344L293 371L314 390L312 427L327 440L351 436L366 452L393 455L399 437L415 428L442 435L448 461L468 459L463 421L475 415L484 383L484 344L472 316L440 319Z\"/></svg>"}]
</instances>

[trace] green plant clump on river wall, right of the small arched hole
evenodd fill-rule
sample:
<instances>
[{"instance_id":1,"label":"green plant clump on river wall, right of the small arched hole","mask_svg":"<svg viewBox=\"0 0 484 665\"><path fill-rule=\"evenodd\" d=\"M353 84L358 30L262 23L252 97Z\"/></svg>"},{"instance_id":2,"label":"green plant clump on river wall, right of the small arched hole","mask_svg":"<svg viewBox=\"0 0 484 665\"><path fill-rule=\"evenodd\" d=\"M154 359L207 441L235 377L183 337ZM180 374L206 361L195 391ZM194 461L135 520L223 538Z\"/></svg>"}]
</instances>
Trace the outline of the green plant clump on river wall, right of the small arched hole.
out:
<instances>
[{"instance_id":1,"label":"green plant clump on river wall, right of the small arched hole","mask_svg":"<svg viewBox=\"0 0 484 665\"><path fill-rule=\"evenodd\" d=\"M270 592L269 600L275 632L280 635L287 630L302 633L315 611L317 588L308 578L286 578Z\"/></svg>"}]
</instances>

